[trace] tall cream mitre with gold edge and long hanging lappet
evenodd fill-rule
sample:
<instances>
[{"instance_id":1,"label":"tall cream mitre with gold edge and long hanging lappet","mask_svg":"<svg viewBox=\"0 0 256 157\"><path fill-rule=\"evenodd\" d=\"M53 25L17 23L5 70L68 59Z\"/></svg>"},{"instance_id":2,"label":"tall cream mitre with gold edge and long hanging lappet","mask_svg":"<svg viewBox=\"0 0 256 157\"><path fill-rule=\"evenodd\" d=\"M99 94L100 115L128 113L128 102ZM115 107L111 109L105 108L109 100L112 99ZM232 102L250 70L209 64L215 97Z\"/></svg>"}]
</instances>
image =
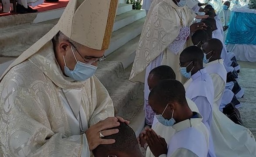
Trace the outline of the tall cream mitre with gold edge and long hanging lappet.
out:
<instances>
[{"instance_id":1,"label":"tall cream mitre with gold edge and long hanging lappet","mask_svg":"<svg viewBox=\"0 0 256 157\"><path fill-rule=\"evenodd\" d=\"M37 53L61 31L72 41L96 50L106 50L112 34L118 0L70 0L58 23L24 51L3 73Z\"/></svg>"}]
</instances>

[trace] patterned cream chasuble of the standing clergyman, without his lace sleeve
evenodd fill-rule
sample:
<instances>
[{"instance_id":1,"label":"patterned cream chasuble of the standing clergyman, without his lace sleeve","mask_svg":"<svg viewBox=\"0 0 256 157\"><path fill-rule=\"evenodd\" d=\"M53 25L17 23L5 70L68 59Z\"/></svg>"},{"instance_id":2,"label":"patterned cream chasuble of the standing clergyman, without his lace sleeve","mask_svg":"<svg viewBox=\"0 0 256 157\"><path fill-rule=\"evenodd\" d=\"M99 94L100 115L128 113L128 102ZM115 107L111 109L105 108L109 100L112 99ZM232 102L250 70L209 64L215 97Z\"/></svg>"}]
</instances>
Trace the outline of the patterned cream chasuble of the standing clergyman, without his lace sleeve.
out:
<instances>
[{"instance_id":1,"label":"patterned cream chasuble of the standing clergyman, without his lace sleeve","mask_svg":"<svg viewBox=\"0 0 256 157\"><path fill-rule=\"evenodd\" d=\"M156 0L153 3L143 25L130 81L144 82L147 66L161 53L164 53L162 65L171 66L176 73L176 79L181 81L179 55L187 45L184 44L177 55L167 47L173 43L181 30L181 12L183 27L188 29L195 18L195 13L187 6L178 7L173 0Z\"/></svg>"}]
</instances>

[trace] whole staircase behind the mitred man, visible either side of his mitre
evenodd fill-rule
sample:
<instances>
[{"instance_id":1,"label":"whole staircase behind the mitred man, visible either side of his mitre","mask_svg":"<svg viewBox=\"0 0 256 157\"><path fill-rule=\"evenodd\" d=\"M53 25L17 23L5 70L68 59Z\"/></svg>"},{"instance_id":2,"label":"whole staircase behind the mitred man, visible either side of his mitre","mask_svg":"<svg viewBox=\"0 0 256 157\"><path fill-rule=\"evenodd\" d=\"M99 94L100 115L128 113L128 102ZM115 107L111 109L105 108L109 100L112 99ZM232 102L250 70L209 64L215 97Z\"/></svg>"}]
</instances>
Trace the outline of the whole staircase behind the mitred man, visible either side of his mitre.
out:
<instances>
[{"instance_id":1,"label":"whole staircase behind the mitred man, visible either side of his mitre","mask_svg":"<svg viewBox=\"0 0 256 157\"><path fill-rule=\"evenodd\" d=\"M0 17L0 75L58 22L63 10ZM113 99L116 115L130 120L137 135L144 126L143 85L128 78L145 16L144 11L132 10L132 5L119 0L107 59L96 72Z\"/></svg>"}]
</instances>

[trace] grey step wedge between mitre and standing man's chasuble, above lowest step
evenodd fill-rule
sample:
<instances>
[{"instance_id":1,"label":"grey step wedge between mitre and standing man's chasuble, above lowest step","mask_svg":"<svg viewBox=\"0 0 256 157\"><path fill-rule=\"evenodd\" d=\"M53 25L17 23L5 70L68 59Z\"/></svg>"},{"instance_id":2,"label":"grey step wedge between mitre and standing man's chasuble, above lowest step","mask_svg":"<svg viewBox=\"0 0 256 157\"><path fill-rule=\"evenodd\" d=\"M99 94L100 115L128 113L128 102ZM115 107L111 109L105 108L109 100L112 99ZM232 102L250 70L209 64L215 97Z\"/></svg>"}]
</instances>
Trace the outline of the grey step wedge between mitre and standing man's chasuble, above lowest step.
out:
<instances>
[{"instance_id":1,"label":"grey step wedge between mitre and standing man's chasuble, above lowest step","mask_svg":"<svg viewBox=\"0 0 256 157\"><path fill-rule=\"evenodd\" d=\"M139 40L140 40L140 35L130 40L129 42L127 42L122 47L118 48L113 53L111 53L106 58L106 60L120 61L123 64L123 68L126 69L134 61Z\"/></svg>"}]
</instances>

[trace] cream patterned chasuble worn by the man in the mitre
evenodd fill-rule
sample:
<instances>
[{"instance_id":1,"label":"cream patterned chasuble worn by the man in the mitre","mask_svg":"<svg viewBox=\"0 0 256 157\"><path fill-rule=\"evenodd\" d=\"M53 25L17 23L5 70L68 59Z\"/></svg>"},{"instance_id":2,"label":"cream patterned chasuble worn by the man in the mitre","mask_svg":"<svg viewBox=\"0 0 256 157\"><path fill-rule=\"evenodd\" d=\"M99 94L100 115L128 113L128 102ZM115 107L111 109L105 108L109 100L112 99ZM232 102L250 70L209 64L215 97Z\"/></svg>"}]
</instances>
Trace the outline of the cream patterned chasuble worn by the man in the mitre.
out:
<instances>
[{"instance_id":1,"label":"cream patterned chasuble worn by the man in the mitre","mask_svg":"<svg viewBox=\"0 0 256 157\"><path fill-rule=\"evenodd\" d=\"M59 89L82 89L88 127L114 116L107 90L93 76L71 82L59 68L51 41L11 68L0 82L0 142L9 157L80 157L85 134L72 134ZM85 102L85 103L83 103ZM91 153L86 152L86 157Z\"/></svg>"}]
</instances>

